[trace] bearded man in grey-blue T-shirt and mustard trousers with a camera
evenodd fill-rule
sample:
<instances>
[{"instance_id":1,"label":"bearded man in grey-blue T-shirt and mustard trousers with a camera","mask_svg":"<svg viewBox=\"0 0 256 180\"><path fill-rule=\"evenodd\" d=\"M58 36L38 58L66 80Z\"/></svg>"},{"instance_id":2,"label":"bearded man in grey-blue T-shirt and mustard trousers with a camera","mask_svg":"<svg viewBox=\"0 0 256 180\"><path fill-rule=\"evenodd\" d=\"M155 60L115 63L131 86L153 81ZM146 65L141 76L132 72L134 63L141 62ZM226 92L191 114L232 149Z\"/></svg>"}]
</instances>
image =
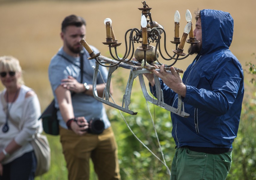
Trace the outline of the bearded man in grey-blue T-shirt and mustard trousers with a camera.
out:
<instances>
[{"instance_id":1,"label":"bearded man in grey-blue T-shirt and mustard trousers with a camera","mask_svg":"<svg viewBox=\"0 0 256 180\"><path fill-rule=\"evenodd\" d=\"M90 56L80 44L86 35L85 20L76 15L67 16L62 22L60 35L63 46L51 59L48 75L55 107L59 108L60 141L69 179L89 180L90 158L99 180L120 179L114 133L103 104L93 97L95 60L87 59ZM99 72L96 90L102 97L107 69L100 66ZM103 132L92 131L92 119L97 119Z\"/></svg>"}]
</instances>

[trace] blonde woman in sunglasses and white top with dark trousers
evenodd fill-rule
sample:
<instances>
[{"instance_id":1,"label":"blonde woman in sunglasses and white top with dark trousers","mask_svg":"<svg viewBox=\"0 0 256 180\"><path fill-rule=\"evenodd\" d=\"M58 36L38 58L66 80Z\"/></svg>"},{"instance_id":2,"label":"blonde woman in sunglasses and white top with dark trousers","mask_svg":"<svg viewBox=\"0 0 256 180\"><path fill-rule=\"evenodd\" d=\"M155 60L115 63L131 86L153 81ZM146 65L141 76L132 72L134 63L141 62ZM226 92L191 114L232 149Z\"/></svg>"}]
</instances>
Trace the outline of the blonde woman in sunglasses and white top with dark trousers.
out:
<instances>
[{"instance_id":1,"label":"blonde woman in sunglasses and white top with dark trousers","mask_svg":"<svg viewBox=\"0 0 256 180\"><path fill-rule=\"evenodd\" d=\"M36 158L30 144L42 131L41 113L35 92L24 85L19 61L0 57L0 180L34 179Z\"/></svg>"}]
</instances>

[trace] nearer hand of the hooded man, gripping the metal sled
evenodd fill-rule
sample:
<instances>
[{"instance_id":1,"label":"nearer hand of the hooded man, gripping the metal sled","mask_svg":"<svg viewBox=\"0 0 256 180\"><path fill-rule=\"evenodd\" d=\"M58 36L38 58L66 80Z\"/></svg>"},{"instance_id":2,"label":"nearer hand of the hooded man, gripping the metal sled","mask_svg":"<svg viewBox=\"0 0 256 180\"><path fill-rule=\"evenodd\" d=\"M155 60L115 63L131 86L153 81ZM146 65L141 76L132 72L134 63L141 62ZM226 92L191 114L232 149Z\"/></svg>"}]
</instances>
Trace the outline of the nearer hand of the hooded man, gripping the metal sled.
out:
<instances>
[{"instance_id":1,"label":"nearer hand of the hooded man, gripping the metal sled","mask_svg":"<svg viewBox=\"0 0 256 180\"><path fill-rule=\"evenodd\" d=\"M166 72L166 70L164 70L164 64L162 64L160 66L160 72L158 72L157 70L150 71L153 72L157 77L161 78L163 82L174 92L185 97L187 91L186 85L183 84L181 76L179 75L179 73L177 73L175 68L170 67L170 69L171 73Z\"/></svg>"}]
</instances>

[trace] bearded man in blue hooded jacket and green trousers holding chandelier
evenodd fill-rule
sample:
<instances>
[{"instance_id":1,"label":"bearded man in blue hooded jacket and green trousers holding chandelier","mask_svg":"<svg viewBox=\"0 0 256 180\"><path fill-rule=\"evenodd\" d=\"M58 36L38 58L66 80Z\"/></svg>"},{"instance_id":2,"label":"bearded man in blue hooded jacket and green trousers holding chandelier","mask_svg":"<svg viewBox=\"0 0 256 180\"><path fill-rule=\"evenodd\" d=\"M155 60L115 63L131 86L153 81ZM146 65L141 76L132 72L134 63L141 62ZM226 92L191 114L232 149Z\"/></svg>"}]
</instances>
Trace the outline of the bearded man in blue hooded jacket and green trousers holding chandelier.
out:
<instances>
[{"instance_id":1,"label":"bearded man in blue hooded jacket and green trousers holding chandelier","mask_svg":"<svg viewBox=\"0 0 256 180\"><path fill-rule=\"evenodd\" d=\"M188 118L171 113L177 149L171 179L226 179L231 167L232 143L237 136L242 99L243 71L230 52L233 18L219 10L196 12L193 45L196 58L181 79L160 67L151 70L160 79L164 102L177 108L182 96ZM155 91L153 74L145 74Z\"/></svg>"}]
</instances>

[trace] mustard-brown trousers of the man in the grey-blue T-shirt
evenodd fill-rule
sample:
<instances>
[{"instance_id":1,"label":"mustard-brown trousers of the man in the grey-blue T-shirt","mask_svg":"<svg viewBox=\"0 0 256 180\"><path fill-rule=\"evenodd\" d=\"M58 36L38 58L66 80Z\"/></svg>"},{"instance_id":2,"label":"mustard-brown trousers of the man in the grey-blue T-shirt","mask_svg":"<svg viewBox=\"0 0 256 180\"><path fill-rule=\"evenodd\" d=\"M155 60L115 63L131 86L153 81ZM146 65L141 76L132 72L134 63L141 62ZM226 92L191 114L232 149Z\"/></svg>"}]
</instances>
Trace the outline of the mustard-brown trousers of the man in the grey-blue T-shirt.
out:
<instances>
[{"instance_id":1,"label":"mustard-brown trousers of the man in the grey-blue T-shirt","mask_svg":"<svg viewBox=\"0 0 256 180\"><path fill-rule=\"evenodd\" d=\"M120 180L117 143L111 127L100 135L83 136L60 127L60 142L69 180L89 180L90 158L99 180Z\"/></svg>"}]
</instances>

